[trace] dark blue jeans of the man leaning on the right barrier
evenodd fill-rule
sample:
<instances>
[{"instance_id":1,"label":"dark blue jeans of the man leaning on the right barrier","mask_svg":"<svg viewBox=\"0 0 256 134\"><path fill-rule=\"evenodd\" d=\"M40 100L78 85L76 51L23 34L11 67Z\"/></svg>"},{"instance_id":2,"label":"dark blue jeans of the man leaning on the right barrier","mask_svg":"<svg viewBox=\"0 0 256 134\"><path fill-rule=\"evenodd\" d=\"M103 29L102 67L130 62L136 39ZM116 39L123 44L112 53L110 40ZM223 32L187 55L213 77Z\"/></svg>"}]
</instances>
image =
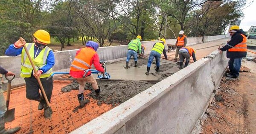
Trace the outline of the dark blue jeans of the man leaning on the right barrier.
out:
<instances>
[{"instance_id":1,"label":"dark blue jeans of the man leaning on the right barrier","mask_svg":"<svg viewBox=\"0 0 256 134\"><path fill-rule=\"evenodd\" d=\"M228 66L230 69L230 74L233 76L239 76L239 70L241 68L241 60L242 58L230 59L228 61Z\"/></svg>"}]
</instances>

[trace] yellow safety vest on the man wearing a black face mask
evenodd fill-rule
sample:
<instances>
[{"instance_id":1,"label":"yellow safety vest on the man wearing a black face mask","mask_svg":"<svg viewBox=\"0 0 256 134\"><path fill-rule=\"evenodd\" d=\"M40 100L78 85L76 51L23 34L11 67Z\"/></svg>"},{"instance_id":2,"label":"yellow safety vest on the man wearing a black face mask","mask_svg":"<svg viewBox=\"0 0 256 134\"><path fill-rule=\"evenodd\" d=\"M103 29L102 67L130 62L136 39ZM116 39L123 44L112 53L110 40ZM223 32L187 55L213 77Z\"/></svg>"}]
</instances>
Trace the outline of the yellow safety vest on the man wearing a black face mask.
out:
<instances>
[{"instance_id":1,"label":"yellow safety vest on the man wearing a black face mask","mask_svg":"<svg viewBox=\"0 0 256 134\"><path fill-rule=\"evenodd\" d=\"M26 47L29 51L29 55L33 60L34 57L34 47L35 43L26 43ZM49 54L49 51L52 50L48 46L46 46L39 54L38 56L33 60L33 63L35 65L35 69L39 70L40 68L44 67L46 65L47 56ZM29 58L27 57L26 51L23 48L21 52L21 73L20 77L28 78L31 77L33 67L29 61ZM52 74L52 68L49 69L49 71L41 74L40 78L46 78L49 77Z\"/></svg>"}]
</instances>

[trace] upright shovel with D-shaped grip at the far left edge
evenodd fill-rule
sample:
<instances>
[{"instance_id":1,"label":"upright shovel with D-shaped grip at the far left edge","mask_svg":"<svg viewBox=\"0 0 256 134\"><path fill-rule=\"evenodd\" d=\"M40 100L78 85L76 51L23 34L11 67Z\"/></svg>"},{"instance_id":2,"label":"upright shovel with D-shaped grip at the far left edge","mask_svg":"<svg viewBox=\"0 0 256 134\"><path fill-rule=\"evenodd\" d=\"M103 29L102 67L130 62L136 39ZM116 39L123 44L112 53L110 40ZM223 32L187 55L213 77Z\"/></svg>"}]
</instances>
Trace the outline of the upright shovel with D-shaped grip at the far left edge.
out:
<instances>
[{"instance_id":1,"label":"upright shovel with D-shaped grip at the far left edge","mask_svg":"<svg viewBox=\"0 0 256 134\"><path fill-rule=\"evenodd\" d=\"M7 97L6 97L7 111L4 114L4 122L7 123L7 122L11 122L11 121L14 120L15 108L9 109L9 103L10 103L10 93L11 93L11 82L14 79L15 75L13 75L11 79L8 78L8 77L11 77L11 76L7 77L5 75L5 77L6 77L6 80L8 80L8 83L7 83Z\"/></svg>"}]
</instances>

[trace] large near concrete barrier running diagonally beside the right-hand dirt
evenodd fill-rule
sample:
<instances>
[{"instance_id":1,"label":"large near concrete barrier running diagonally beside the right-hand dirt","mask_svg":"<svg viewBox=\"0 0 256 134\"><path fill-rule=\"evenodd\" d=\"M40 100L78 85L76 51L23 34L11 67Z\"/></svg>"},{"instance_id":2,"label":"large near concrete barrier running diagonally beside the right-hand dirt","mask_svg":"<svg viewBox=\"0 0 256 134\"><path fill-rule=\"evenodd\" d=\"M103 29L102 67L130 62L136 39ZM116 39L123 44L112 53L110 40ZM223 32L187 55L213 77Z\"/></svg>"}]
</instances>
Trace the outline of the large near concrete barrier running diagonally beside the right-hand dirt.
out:
<instances>
[{"instance_id":1,"label":"large near concrete barrier running diagonally beside the right-hand dirt","mask_svg":"<svg viewBox=\"0 0 256 134\"><path fill-rule=\"evenodd\" d=\"M226 67L214 51L71 134L188 134Z\"/></svg>"}]
</instances>

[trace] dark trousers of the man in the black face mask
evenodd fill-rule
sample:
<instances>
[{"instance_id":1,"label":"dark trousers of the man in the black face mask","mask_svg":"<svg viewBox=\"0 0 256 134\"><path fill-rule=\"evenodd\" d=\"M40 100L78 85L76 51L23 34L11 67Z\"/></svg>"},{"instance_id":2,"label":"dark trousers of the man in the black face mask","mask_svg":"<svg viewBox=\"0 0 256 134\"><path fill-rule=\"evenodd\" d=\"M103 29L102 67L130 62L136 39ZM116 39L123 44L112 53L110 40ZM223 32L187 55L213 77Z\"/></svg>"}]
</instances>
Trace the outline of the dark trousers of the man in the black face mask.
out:
<instances>
[{"instance_id":1,"label":"dark trousers of the man in the black face mask","mask_svg":"<svg viewBox=\"0 0 256 134\"><path fill-rule=\"evenodd\" d=\"M45 94L49 102L52 97L53 80L46 80L47 78L41 78L41 83L44 87ZM40 97L39 89L41 90L37 79L32 75L29 78L25 78L26 82L26 98L29 100L38 100ZM44 97L44 95L42 94Z\"/></svg>"}]
</instances>

